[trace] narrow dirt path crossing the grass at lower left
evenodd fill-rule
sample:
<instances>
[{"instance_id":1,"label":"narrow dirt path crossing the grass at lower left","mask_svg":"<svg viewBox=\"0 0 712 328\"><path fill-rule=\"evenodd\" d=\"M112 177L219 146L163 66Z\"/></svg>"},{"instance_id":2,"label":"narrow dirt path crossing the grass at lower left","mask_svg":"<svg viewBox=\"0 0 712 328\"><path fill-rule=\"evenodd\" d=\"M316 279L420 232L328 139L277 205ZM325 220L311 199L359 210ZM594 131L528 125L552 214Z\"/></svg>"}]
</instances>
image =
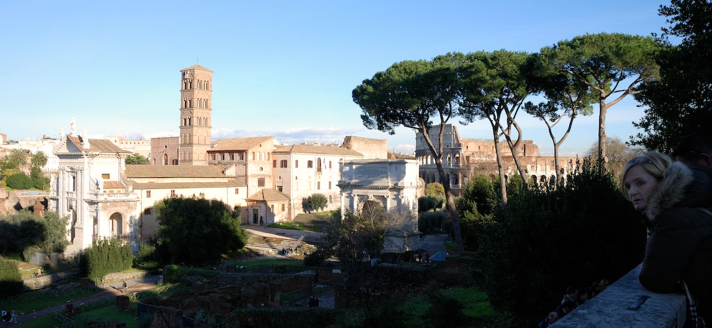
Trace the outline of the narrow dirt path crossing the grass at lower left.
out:
<instances>
[{"instance_id":1,"label":"narrow dirt path crossing the grass at lower left","mask_svg":"<svg viewBox=\"0 0 712 328\"><path fill-rule=\"evenodd\" d=\"M113 282L112 284L104 287L105 290L103 292L98 292L94 295L84 297L81 300L74 300L72 302L66 302L61 305L56 305L54 307L48 307L46 309L38 310L35 312L31 312L31 313L18 314L17 321L19 322L19 325L22 325L24 322L26 322L28 320L32 320L36 317L40 317L45 314L51 314L57 310L64 310L68 304L78 307L80 304L83 304L83 303L95 302L95 301L104 300L104 299L107 299L110 297L116 297L118 295L129 295L132 292L141 292L143 290L154 289L156 287L156 284L155 283L145 283L147 280L146 278L136 279L136 280L126 280L126 285L127 285L126 292L122 292L120 290L122 282ZM8 309L8 310L11 310L11 309ZM31 322L30 322L30 324L31 324ZM14 325L15 325L14 323L11 324L9 322L0 322L0 328L13 327Z\"/></svg>"}]
</instances>

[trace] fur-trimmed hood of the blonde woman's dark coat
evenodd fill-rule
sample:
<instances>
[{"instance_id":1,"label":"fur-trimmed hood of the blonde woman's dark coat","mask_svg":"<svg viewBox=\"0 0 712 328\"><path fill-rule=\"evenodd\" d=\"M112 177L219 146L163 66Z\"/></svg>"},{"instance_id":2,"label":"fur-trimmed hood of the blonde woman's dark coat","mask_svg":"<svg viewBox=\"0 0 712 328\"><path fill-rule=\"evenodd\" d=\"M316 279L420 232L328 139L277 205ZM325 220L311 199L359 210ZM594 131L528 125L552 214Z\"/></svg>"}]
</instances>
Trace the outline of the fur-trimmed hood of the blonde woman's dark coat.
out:
<instances>
[{"instance_id":1,"label":"fur-trimmed hood of the blonde woman's dark coat","mask_svg":"<svg viewBox=\"0 0 712 328\"><path fill-rule=\"evenodd\" d=\"M655 193L650 196L645 215L654 221L663 211L674 206L708 207L711 201L712 177L701 169L690 169L674 162L663 174Z\"/></svg>"}]
</instances>

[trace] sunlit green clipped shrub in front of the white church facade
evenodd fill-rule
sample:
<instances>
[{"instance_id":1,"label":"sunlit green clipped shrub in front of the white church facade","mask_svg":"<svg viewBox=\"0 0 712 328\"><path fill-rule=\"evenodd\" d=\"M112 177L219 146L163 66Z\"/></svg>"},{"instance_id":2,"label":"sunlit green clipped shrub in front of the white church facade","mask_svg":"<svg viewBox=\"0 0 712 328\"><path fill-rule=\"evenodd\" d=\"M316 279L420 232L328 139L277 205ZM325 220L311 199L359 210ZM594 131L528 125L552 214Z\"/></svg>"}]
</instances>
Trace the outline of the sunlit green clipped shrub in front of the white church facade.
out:
<instances>
[{"instance_id":1,"label":"sunlit green clipped shrub in front of the white church facade","mask_svg":"<svg viewBox=\"0 0 712 328\"><path fill-rule=\"evenodd\" d=\"M80 268L85 277L100 278L131 268L133 254L129 245L121 245L117 239L94 240L92 247L84 250Z\"/></svg>"}]
</instances>

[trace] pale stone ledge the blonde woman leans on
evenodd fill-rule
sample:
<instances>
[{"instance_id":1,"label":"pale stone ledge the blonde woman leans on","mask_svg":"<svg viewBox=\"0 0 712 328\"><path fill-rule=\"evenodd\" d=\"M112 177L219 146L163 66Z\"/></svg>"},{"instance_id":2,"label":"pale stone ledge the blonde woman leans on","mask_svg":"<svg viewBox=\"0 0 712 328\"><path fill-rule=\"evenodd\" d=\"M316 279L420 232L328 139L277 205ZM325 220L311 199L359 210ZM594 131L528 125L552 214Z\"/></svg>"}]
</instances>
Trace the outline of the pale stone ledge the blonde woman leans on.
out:
<instances>
[{"instance_id":1,"label":"pale stone ledge the blonde woman leans on","mask_svg":"<svg viewBox=\"0 0 712 328\"><path fill-rule=\"evenodd\" d=\"M685 296L646 290L638 273L640 265L550 327L683 327Z\"/></svg>"}]
</instances>

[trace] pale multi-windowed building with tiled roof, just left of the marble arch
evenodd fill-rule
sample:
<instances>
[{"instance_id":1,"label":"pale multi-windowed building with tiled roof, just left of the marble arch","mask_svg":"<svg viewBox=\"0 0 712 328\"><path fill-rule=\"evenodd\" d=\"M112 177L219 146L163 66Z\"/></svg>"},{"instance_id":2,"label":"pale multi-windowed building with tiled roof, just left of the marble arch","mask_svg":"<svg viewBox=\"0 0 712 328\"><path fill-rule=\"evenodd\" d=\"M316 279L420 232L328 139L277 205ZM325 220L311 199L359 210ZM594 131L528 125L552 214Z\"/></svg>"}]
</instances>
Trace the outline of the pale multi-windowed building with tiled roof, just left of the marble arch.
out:
<instances>
[{"instance_id":1,"label":"pale multi-windowed building with tiled roof, just left of the marble arch","mask_svg":"<svg viewBox=\"0 0 712 328\"><path fill-rule=\"evenodd\" d=\"M277 146L272 157L274 188L290 199L289 218L294 218L305 211L306 200L313 194L327 197L327 210L340 208L340 163L363 155L340 147L293 144Z\"/></svg>"}]
</instances>

